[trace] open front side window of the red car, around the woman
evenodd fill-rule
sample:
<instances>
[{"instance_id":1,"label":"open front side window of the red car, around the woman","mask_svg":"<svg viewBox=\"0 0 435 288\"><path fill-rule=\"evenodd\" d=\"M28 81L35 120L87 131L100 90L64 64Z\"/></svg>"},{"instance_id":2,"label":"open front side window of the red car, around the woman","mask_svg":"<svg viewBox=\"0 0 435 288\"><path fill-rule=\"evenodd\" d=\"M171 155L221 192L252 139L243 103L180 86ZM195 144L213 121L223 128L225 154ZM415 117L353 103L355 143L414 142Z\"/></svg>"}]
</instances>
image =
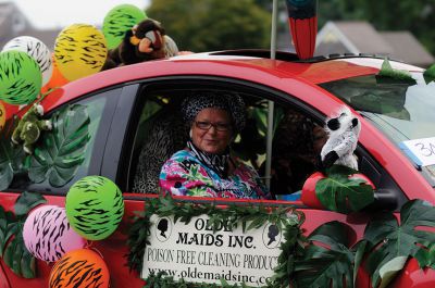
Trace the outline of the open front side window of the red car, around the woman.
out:
<instances>
[{"instance_id":1,"label":"open front side window of the red car, around the woman","mask_svg":"<svg viewBox=\"0 0 435 288\"><path fill-rule=\"evenodd\" d=\"M179 107L187 96L201 90L144 90L137 105L134 141L129 156L127 191L157 193L163 163L186 147L188 127ZM237 92L245 101L247 124L232 145L234 154L254 167L265 180L268 99L251 91L203 88L201 91ZM325 141L322 125L290 103L276 102L274 109L271 191L276 196L300 192L314 172L315 155ZM322 142L323 141L323 142ZM278 197L279 198L279 197Z\"/></svg>"}]
</instances>

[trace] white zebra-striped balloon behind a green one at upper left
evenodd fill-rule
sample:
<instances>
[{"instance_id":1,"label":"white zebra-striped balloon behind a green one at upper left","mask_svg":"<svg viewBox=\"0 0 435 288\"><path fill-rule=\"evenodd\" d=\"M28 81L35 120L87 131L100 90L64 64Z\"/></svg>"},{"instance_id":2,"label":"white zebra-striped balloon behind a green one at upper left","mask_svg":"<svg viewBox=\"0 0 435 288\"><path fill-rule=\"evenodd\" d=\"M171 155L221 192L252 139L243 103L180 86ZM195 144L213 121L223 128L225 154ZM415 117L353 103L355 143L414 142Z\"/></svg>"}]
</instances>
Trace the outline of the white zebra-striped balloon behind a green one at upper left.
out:
<instances>
[{"instance_id":1,"label":"white zebra-striped balloon behind a green one at upper left","mask_svg":"<svg viewBox=\"0 0 435 288\"><path fill-rule=\"evenodd\" d=\"M3 51L9 50L25 52L36 60L42 73L42 86L50 80L53 73L53 64L51 62L50 50L42 41L30 36L16 37L3 47Z\"/></svg>"}]
</instances>

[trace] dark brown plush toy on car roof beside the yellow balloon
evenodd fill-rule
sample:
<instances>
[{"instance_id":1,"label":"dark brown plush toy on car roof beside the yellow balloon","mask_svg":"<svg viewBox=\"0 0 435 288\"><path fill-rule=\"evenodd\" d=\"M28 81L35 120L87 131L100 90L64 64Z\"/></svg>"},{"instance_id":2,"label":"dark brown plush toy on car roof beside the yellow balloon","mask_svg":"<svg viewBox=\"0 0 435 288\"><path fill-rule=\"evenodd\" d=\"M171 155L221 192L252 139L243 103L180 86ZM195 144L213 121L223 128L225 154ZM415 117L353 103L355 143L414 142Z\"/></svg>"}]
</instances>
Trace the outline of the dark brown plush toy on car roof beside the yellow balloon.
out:
<instances>
[{"instance_id":1,"label":"dark brown plush toy on car roof beside the yellow balloon","mask_svg":"<svg viewBox=\"0 0 435 288\"><path fill-rule=\"evenodd\" d=\"M109 51L102 71L165 58L164 35L165 32L158 21L144 20L127 30L122 42Z\"/></svg>"}]
</instances>

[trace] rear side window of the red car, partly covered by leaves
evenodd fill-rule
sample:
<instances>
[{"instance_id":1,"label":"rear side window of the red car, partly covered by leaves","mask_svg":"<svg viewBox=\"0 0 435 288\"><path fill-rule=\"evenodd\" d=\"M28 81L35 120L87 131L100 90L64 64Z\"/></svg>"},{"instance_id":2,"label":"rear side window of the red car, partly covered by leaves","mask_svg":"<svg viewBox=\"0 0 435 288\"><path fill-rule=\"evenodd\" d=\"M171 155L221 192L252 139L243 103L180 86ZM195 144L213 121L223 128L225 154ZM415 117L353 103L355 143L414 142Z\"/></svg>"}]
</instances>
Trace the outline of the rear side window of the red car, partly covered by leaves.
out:
<instances>
[{"instance_id":1,"label":"rear side window of the red car, partly covered by leaves","mask_svg":"<svg viewBox=\"0 0 435 288\"><path fill-rule=\"evenodd\" d=\"M27 158L28 171L23 171L14 175L10 189L14 190L44 190L46 192L66 192L72 184L77 179L90 175L99 174L98 155L104 147L104 137L107 136L108 127L110 126L110 111L113 110L116 95L113 90L101 95L83 99L80 101L62 105L55 111L52 111L47 117L51 118L53 130L41 135L38 141L38 149L42 150L39 156L35 155ZM86 118L84 118L86 117ZM79 127L76 130L71 130L71 127L79 122ZM103 128L104 126L104 128ZM73 149L65 149L65 154L62 154L62 147L69 145L69 133L83 134L74 139L79 139L80 143ZM86 136L87 133L87 136ZM46 145L55 142L55 145ZM70 143L72 145L72 143ZM57 161L50 163L45 162L44 153L55 155ZM57 164L59 161L67 159L79 159L76 165ZM41 160L42 159L42 160ZM38 168L44 173L35 176ZM34 175L30 175L34 173ZM35 180L36 179L36 180Z\"/></svg>"}]
</instances>

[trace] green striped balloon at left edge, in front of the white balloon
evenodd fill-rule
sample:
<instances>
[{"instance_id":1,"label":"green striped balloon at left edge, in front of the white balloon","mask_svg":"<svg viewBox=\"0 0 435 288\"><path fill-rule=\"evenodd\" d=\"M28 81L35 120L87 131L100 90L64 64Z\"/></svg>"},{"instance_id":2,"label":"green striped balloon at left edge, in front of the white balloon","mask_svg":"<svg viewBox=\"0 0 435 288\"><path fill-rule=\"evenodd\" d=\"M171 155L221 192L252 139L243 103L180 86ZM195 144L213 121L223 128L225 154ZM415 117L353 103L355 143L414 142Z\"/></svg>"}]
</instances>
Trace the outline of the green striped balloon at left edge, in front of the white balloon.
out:
<instances>
[{"instance_id":1,"label":"green striped balloon at left edge, in front of the white balloon","mask_svg":"<svg viewBox=\"0 0 435 288\"><path fill-rule=\"evenodd\" d=\"M33 102L42 85L42 73L35 59L22 51L0 53L0 100L21 105Z\"/></svg>"}]
</instances>

